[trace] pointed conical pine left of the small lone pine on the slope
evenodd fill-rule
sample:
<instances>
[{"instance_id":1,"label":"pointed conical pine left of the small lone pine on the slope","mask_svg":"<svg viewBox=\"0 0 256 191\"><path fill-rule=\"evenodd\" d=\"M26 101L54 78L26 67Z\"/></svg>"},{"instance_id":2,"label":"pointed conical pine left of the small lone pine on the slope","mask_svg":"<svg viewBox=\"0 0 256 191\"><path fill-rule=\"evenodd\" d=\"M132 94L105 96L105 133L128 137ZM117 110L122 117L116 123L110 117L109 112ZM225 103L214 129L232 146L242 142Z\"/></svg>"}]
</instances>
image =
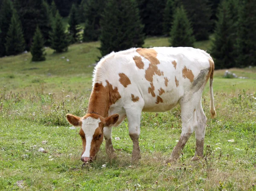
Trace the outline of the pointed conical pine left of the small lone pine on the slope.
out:
<instances>
[{"instance_id":1,"label":"pointed conical pine left of the small lone pine on the slope","mask_svg":"<svg viewBox=\"0 0 256 191\"><path fill-rule=\"evenodd\" d=\"M17 12L13 10L11 24L6 37L6 55L17 55L24 51L25 40Z\"/></svg>"}]
</instances>

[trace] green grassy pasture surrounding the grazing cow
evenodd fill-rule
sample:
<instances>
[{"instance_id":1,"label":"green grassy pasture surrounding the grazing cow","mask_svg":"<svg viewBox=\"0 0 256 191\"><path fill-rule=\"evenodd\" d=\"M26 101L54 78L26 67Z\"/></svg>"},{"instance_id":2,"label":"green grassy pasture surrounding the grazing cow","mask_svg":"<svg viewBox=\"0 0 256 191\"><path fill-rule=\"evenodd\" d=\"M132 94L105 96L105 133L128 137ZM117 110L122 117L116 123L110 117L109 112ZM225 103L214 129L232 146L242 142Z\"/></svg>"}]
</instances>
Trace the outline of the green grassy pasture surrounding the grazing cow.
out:
<instances>
[{"instance_id":1,"label":"green grassy pasture surrounding the grazing cow","mask_svg":"<svg viewBox=\"0 0 256 191\"><path fill-rule=\"evenodd\" d=\"M168 45L168 38L145 41L145 47ZM65 115L87 111L98 47L99 42L75 44L61 54L48 48L47 60L37 63L30 53L0 58L0 190L256 191L256 68L230 69L247 79L223 78L225 71L215 70L215 119L209 85L202 99L208 119L203 159L191 161L193 134L180 159L165 162L181 133L176 107L142 114L137 165L130 163L127 120L112 131L117 159L108 159L104 141L96 162L82 165L79 129Z\"/></svg>"}]
</instances>

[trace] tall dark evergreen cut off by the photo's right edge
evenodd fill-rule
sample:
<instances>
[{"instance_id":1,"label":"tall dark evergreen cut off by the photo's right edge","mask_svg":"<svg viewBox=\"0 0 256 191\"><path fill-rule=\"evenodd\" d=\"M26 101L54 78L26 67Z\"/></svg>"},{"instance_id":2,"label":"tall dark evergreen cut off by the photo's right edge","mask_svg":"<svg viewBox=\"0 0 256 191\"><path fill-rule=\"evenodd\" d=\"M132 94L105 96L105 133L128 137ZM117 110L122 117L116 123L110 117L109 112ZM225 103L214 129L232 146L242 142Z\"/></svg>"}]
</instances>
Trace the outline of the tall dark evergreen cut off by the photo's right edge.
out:
<instances>
[{"instance_id":1,"label":"tall dark evergreen cut off by the photo's right edge","mask_svg":"<svg viewBox=\"0 0 256 191\"><path fill-rule=\"evenodd\" d=\"M236 67L256 66L256 3L244 1L239 10Z\"/></svg>"}]
</instances>

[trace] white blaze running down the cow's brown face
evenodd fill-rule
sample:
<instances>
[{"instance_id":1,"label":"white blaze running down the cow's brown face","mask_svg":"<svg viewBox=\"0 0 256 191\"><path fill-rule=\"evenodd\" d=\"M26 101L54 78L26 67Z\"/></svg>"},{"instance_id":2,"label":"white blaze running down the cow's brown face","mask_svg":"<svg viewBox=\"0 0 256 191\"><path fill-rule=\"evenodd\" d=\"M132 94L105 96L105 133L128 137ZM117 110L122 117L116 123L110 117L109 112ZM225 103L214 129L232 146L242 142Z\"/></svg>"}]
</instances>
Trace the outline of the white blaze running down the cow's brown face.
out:
<instances>
[{"instance_id":1,"label":"white blaze running down the cow's brown face","mask_svg":"<svg viewBox=\"0 0 256 191\"><path fill-rule=\"evenodd\" d=\"M93 140L95 130L99 127L99 123L100 119L94 119L92 117L82 120L82 130L84 131L86 139L86 147L82 157L90 157L91 142Z\"/></svg>"}]
</instances>

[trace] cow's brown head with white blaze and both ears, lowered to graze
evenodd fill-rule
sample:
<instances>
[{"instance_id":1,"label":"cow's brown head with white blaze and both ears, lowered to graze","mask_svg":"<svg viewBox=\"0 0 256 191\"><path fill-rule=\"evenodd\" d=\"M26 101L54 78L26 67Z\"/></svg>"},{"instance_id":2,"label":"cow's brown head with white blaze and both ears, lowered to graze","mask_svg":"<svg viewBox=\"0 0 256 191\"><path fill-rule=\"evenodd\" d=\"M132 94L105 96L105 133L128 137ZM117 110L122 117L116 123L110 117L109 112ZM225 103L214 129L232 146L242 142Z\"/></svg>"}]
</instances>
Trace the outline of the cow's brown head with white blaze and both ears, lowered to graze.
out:
<instances>
[{"instance_id":1,"label":"cow's brown head with white blaze and both ears, lowered to graze","mask_svg":"<svg viewBox=\"0 0 256 191\"><path fill-rule=\"evenodd\" d=\"M96 113L88 113L80 118L72 114L67 114L66 118L70 124L81 127L79 131L83 144L81 161L92 162L103 142L103 128L115 124L119 115L114 114L103 118Z\"/></svg>"}]
</instances>

